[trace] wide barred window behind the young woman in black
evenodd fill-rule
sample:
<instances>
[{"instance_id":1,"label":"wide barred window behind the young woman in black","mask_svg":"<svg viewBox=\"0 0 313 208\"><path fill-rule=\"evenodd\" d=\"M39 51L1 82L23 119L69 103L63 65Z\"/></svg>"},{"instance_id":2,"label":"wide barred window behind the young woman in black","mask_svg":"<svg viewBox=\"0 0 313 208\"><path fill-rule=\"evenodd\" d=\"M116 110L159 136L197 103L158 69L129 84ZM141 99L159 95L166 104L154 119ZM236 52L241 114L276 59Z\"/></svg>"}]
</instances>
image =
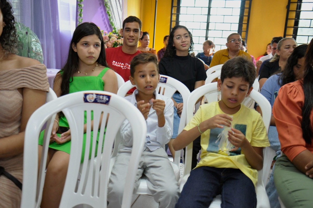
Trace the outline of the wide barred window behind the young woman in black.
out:
<instances>
[{"instance_id":1,"label":"wide barred window behind the young woman in black","mask_svg":"<svg viewBox=\"0 0 313 208\"><path fill-rule=\"evenodd\" d=\"M252 0L172 0L170 30L186 26L192 33L194 53L203 52L202 44L211 40L215 51L225 49L228 35L248 37Z\"/></svg>"}]
</instances>

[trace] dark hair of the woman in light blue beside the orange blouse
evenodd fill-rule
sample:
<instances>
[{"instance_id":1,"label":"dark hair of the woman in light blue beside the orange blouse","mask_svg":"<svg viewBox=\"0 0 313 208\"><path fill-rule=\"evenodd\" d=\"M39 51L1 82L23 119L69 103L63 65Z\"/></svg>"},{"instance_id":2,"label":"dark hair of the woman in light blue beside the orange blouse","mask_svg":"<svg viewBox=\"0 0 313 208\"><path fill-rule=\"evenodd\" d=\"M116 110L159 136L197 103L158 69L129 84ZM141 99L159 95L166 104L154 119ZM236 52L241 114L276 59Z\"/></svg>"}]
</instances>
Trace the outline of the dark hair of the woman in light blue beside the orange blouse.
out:
<instances>
[{"instance_id":1,"label":"dark hair of the woman in light blue beside the orange blouse","mask_svg":"<svg viewBox=\"0 0 313 208\"><path fill-rule=\"evenodd\" d=\"M297 46L293 51L292 54L289 56L287 63L285 65L285 68L278 79L278 84L280 86L283 86L285 84L288 84L290 82L296 81L296 76L293 71L293 67L297 65L298 59L301 59L305 55L305 51L308 48L307 44L299 45ZM280 73L280 72L279 72Z\"/></svg>"}]
</instances>

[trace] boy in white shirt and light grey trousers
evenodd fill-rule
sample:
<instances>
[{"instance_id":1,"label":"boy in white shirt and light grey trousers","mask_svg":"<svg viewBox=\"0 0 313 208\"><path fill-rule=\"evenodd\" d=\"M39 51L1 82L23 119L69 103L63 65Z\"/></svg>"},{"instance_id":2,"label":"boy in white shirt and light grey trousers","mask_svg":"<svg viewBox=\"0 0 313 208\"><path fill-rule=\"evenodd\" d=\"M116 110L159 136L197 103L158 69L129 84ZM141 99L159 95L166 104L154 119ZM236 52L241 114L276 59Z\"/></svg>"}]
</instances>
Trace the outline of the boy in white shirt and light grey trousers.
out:
<instances>
[{"instance_id":1,"label":"boy in white shirt and light grey trousers","mask_svg":"<svg viewBox=\"0 0 313 208\"><path fill-rule=\"evenodd\" d=\"M146 119L146 143L139 162L135 189L140 177L147 177L148 189L160 208L172 208L178 200L178 185L172 165L163 145L173 134L174 104L171 98L156 92L159 68L156 55L142 53L131 61L131 83L136 85L132 95L125 97L137 106ZM121 126L122 143L112 168L108 188L108 208L121 207L127 166L132 149L132 130L128 121Z\"/></svg>"}]
</instances>

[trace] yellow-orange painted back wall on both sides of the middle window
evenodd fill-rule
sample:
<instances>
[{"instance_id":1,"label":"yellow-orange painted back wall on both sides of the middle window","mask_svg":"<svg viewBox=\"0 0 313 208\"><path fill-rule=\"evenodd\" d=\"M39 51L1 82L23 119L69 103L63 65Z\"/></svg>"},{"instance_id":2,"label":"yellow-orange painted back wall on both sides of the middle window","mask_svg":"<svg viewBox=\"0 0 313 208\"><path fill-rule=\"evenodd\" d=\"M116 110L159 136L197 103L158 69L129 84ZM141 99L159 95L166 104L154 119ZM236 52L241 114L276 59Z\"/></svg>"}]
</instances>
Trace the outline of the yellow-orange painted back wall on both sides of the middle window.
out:
<instances>
[{"instance_id":1,"label":"yellow-orange painted back wall on both sides of the middle window","mask_svg":"<svg viewBox=\"0 0 313 208\"><path fill-rule=\"evenodd\" d=\"M158 0L156 12L156 41L154 48L163 48L163 38L169 34L171 1ZM248 52L257 58L264 54L273 37L283 36L288 0L254 0L251 4ZM149 47L153 44L155 0L128 0L128 16L135 15L142 21L142 31L150 34Z\"/></svg>"}]
</instances>

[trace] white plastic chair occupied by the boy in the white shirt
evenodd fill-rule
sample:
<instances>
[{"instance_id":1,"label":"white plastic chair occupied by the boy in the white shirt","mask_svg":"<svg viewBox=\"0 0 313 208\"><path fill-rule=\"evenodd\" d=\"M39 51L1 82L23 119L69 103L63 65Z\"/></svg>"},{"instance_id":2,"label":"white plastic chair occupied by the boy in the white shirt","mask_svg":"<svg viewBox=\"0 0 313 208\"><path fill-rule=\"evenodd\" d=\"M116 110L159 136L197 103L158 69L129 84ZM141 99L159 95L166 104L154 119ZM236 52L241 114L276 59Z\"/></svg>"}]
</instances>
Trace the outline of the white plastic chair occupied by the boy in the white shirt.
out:
<instances>
[{"instance_id":1,"label":"white plastic chair occupied by the boy in the white shirt","mask_svg":"<svg viewBox=\"0 0 313 208\"><path fill-rule=\"evenodd\" d=\"M131 89L135 87L135 85L132 85L130 81L125 82L123 86L119 88L117 91L117 95L124 97L126 93ZM160 75L160 82L158 83L158 86L156 88L156 91L159 92L159 94L167 96L167 97L172 97L173 94L176 91L179 91L179 93L182 95L183 99L183 105L186 105L187 97L190 95L190 91L188 88L182 84L180 81L166 76L166 75ZM182 115L180 118L180 123L178 127L178 134L182 132L183 128L186 126L186 111L185 108L182 110ZM115 157L118 152L118 144L121 143L121 136L117 135L115 138L115 145L112 153L112 161L115 161ZM176 176L177 181L180 178L179 174L179 163L180 163L180 158L181 158L181 151L176 151L175 152L175 159L174 162L172 163L172 167ZM111 162L113 165L114 162ZM140 179L140 185L136 191L136 194L146 194L146 195L152 195L150 190L147 187L146 183L146 177L141 177Z\"/></svg>"}]
</instances>

